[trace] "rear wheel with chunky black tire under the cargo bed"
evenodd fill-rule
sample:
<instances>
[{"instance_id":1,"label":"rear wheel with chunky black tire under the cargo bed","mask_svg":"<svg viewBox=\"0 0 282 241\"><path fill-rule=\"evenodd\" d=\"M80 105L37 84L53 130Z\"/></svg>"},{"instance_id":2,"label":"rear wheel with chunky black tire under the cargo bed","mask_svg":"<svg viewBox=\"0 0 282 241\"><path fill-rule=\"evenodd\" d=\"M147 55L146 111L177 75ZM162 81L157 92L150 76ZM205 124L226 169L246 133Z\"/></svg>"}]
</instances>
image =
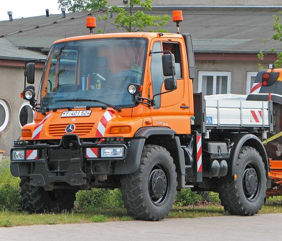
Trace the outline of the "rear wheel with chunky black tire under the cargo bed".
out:
<instances>
[{"instance_id":1,"label":"rear wheel with chunky black tire under the cargo bed","mask_svg":"<svg viewBox=\"0 0 282 241\"><path fill-rule=\"evenodd\" d=\"M254 215L261 209L266 196L265 166L256 149L241 148L236 173L235 181L220 184L221 205L232 215Z\"/></svg>"}]
</instances>

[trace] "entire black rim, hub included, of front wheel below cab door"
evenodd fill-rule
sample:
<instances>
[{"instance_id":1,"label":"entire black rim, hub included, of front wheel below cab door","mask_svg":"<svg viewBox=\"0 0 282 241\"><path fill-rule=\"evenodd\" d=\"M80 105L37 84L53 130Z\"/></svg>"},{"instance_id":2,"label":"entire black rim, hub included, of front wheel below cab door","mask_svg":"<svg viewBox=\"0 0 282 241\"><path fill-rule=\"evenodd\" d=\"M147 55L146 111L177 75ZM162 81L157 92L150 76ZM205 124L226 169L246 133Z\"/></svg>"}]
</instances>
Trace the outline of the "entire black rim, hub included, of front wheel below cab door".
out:
<instances>
[{"instance_id":1,"label":"entire black rim, hub included, of front wheel below cab door","mask_svg":"<svg viewBox=\"0 0 282 241\"><path fill-rule=\"evenodd\" d=\"M169 181L170 176L166 166L161 162L156 163L150 171L148 183L150 198L155 205L160 206L167 199Z\"/></svg>"}]
</instances>

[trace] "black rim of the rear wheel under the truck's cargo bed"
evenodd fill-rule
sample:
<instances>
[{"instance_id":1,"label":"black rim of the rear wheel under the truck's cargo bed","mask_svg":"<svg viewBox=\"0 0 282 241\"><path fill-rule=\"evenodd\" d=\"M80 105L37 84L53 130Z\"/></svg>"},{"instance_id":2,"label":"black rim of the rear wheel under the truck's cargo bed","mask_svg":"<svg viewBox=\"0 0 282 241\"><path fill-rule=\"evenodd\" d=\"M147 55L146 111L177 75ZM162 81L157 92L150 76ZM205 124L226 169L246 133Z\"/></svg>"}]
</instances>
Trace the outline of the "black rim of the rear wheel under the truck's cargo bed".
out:
<instances>
[{"instance_id":1,"label":"black rim of the rear wheel under the truck's cargo bed","mask_svg":"<svg viewBox=\"0 0 282 241\"><path fill-rule=\"evenodd\" d=\"M260 191L259 170L254 162L246 164L243 172L243 189L246 198L253 202L257 199Z\"/></svg>"}]
</instances>

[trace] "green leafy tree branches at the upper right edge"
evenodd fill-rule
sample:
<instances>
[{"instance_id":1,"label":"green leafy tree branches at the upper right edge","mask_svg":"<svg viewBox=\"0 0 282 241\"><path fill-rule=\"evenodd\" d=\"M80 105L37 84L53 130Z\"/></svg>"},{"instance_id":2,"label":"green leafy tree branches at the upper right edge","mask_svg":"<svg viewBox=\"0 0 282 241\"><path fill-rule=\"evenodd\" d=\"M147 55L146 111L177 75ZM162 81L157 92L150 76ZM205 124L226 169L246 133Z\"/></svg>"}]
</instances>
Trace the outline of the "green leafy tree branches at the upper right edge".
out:
<instances>
[{"instance_id":1,"label":"green leafy tree branches at the upper right edge","mask_svg":"<svg viewBox=\"0 0 282 241\"><path fill-rule=\"evenodd\" d=\"M279 13L282 13L282 11L279 11ZM273 15L273 18L274 18L274 23L273 23L274 33L272 35L272 38L263 39L264 44L266 44L269 40L272 40L272 39L282 42L282 23L280 23L280 17ZM281 44L280 44L280 46L281 46ZM281 65L282 65L282 51L277 51L274 48L271 48L269 53L277 54L277 60L274 62L274 65L275 65L275 68L280 68ZM266 55L266 54L267 54L267 52L263 53L263 51L261 50L258 54L259 59L263 60L264 55ZM259 64L259 68L263 69L263 66L261 64Z\"/></svg>"}]
</instances>

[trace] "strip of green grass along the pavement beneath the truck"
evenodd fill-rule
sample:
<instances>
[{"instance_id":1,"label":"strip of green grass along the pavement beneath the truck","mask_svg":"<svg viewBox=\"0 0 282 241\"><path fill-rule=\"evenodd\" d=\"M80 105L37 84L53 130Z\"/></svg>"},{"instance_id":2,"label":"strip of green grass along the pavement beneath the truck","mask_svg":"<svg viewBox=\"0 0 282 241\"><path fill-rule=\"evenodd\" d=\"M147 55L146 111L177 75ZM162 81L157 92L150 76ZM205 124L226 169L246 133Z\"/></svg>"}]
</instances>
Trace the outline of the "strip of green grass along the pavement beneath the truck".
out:
<instances>
[{"instance_id":1,"label":"strip of green grass along the pavement beneath the truck","mask_svg":"<svg viewBox=\"0 0 282 241\"><path fill-rule=\"evenodd\" d=\"M202 204L201 204L202 205ZM281 197L270 198L262 206L259 214L282 213ZM174 207L167 218L199 218L227 216L221 205L212 202L205 203L204 206L189 205L187 207ZM44 213L28 214L25 211L0 212L0 227L36 225L36 224L73 224L73 223L91 223L91 222L111 222L111 221L130 221L134 220L127 215L126 209L105 209L89 211L73 210L67 213Z\"/></svg>"}]
</instances>

